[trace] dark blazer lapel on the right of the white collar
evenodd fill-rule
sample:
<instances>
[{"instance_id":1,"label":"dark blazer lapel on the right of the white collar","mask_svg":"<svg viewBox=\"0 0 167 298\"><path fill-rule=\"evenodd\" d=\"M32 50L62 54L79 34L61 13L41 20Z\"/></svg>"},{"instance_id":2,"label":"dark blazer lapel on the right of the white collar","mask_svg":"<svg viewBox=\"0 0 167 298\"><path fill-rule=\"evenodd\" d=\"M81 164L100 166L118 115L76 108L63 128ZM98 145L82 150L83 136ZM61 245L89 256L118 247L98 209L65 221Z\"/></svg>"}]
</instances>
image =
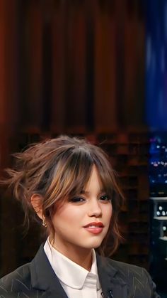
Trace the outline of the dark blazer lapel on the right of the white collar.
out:
<instances>
[{"instance_id":1,"label":"dark blazer lapel on the right of the white collar","mask_svg":"<svg viewBox=\"0 0 167 298\"><path fill-rule=\"evenodd\" d=\"M119 272L108 263L108 259L96 255L98 276L105 298L127 298L127 283L119 276Z\"/></svg>"}]
</instances>

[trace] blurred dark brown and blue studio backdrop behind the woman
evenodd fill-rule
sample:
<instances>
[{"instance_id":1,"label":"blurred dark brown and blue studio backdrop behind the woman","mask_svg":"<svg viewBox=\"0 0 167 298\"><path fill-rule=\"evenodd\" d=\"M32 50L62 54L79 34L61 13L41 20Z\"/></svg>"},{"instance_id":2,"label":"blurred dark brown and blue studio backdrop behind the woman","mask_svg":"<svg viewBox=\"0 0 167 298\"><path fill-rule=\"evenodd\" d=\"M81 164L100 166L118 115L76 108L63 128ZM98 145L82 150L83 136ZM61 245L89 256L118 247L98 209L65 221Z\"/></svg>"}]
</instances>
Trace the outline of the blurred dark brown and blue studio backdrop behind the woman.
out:
<instances>
[{"instance_id":1,"label":"blurred dark brown and blue studio backdrop behind the woman","mask_svg":"<svg viewBox=\"0 0 167 298\"><path fill-rule=\"evenodd\" d=\"M0 0L0 170L59 134L110 155L127 198L113 256L167 297L167 1ZM0 275L30 261L40 228L1 188ZM108 251L110 250L110 243Z\"/></svg>"}]
</instances>

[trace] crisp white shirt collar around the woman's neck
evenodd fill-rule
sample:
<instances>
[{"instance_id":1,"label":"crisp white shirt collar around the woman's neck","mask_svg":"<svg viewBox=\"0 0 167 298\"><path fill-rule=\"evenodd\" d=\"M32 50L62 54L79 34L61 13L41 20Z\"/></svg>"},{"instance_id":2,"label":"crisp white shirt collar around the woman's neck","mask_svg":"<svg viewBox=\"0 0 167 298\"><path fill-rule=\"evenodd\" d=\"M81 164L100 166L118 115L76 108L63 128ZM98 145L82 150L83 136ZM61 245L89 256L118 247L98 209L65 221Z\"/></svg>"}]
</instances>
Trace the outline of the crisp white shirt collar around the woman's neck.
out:
<instances>
[{"instance_id":1,"label":"crisp white shirt collar around the woman's neck","mask_svg":"<svg viewBox=\"0 0 167 298\"><path fill-rule=\"evenodd\" d=\"M44 250L55 274L68 287L81 289L84 284L90 284L92 280L93 284L96 282L96 288L100 289L95 250L92 252L93 262L90 272L55 250L50 244L49 238L44 245Z\"/></svg>"}]
</instances>

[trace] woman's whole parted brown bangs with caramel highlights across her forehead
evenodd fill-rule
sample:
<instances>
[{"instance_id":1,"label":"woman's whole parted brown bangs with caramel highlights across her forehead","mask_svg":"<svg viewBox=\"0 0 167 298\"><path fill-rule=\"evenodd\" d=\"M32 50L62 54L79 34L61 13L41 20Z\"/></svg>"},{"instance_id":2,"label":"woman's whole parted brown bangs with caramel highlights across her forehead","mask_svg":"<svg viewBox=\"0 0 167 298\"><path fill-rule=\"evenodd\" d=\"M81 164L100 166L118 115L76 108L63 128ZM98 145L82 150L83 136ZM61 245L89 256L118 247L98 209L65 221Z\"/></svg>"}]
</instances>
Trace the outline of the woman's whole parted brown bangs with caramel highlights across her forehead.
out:
<instances>
[{"instance_id":1,"label":"woman's whole parted brown bangs with caramel highlights across her forehead","mask_svg":"<svg viewBox=\"0 0 167 298\"><path fill-rule=\"evenodd\" d=\"M93 146L92 146L93 147ZM70 147L59 154L56 164L52 164L52 177L47 183L45 208L62 205L70 196L77 196L84 190L96 166L103 190L108 193L117 209L115 193L119 188L110 162L100 148L93 150L83 147ZM56 203L56 205L55 205Z\"/></svg>"}]
</instances>

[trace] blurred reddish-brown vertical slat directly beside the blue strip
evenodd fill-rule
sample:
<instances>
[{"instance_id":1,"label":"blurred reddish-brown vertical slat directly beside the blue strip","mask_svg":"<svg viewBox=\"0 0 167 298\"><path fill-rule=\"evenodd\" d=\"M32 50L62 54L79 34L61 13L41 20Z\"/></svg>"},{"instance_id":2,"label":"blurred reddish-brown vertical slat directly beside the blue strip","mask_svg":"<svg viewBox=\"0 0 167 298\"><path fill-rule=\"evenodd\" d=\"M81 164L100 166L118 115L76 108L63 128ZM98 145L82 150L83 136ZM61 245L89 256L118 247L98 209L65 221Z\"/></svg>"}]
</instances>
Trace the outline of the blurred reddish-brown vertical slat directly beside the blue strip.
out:
<instances>
[{"instance_id":1,"label":"blurred reddish-brown vertical slat directly beside the blue strip","mask_svg":"<svg viewBox=\"0 0 167 298\"><path fill-rule=\"evenodd\" d=\"M144 125L144 19L133 6L125 16L125 121Z\"/></svg>"}]
</instances>

